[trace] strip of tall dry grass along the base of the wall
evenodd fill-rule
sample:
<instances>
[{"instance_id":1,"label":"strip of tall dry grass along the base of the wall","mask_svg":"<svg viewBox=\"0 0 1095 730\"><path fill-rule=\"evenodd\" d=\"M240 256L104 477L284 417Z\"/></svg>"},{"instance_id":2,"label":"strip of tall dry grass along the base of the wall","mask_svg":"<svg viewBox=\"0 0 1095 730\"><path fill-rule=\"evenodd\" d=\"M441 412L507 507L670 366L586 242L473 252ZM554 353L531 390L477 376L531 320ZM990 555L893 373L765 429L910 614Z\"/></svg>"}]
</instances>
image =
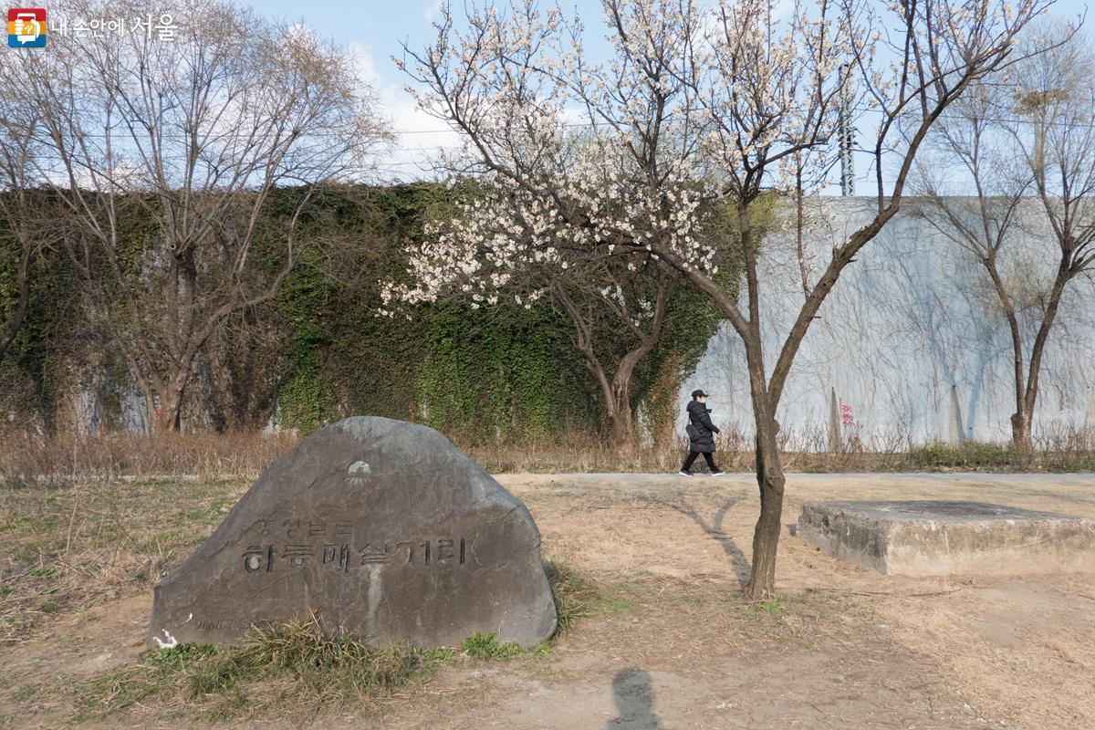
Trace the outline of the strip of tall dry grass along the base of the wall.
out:
<instances>
[{"instance_id":1,"label":"strip of tall dry grass along the base of the wall","mask_svg":"<svg viewBox=\"0 0 1095 730\"><path fill-rule=\"evenodd\" d=\"M10 433L0 452L0 485L18 487L88 479L185 476L191 479L254 479L262 470L299 443L295 434L132 433L42 437ZM807 429L783 440L787 472L1080 472L1095 471L1095 431L1058 429L1036 439L1033 452L1007 444L967 442L913 445L900 434L869 443L852 440L838 452L827 451L823 429ZM454 439L458 447L488 472L672 473L680 468L687 444L607 445L595 432L561 434L554 442L475 444ZM756 468L752 442L740 430L717 437L716 461L730 472Z\"/></svg>"}]
</instances>

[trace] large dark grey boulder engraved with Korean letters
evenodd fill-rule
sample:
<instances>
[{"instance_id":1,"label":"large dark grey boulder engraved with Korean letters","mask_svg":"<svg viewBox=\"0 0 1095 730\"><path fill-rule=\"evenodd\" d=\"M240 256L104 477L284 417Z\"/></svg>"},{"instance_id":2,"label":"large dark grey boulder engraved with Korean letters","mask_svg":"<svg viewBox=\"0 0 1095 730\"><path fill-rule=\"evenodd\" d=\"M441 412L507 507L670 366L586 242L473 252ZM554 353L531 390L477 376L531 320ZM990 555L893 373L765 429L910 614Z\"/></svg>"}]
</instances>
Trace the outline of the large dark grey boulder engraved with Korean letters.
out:
<instances>
[{"instance_id":1,"label":"large dark grey boulder engraved with Korean letters","mask_svg":"<svg viewBox=\"0 0 1095 730\"><path fill-rule=\"evenodd\" d=\"M147 642L231 644L313 611L376 646L528 646L556 622L525 505L437 431L373 417L269 466L155 588Z\"/></svg>"}]
</instances>

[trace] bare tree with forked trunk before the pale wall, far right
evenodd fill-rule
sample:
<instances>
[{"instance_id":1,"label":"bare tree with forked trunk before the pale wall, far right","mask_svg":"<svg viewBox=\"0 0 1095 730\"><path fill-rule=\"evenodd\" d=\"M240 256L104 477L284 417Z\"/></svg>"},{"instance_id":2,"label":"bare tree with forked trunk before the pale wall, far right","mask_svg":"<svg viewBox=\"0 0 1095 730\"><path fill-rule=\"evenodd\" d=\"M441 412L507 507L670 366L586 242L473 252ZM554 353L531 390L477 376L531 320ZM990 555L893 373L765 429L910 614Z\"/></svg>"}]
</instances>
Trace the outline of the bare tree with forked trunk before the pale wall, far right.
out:
<instances>
[{"instance_id":1,"label":"bare tree with forked trunk before the pale wall, far right","mask_svg":"<svg viewBox=\"0 0 1095 730\"><path fill-rule=\"evenodd\" d=\"M979 85L936 130L944 159L957 163L973 195L948 195L955 186L923 170L927 205L920 212L970 252L992 282L1012 341L1012 442L1029 450L1042 356L1062 296L1095 264L1095 58L1069 26L1033 28L1024 46L1028 58L1006 82ZM1015 259L1021 240L1039 236L1023 224L1023 210L1040 210L1048 222L1041 235L1049 237L1036 243L1056 253L1049 281L1008 271L1008 253Z\"/></svg>"}]
</instances>

